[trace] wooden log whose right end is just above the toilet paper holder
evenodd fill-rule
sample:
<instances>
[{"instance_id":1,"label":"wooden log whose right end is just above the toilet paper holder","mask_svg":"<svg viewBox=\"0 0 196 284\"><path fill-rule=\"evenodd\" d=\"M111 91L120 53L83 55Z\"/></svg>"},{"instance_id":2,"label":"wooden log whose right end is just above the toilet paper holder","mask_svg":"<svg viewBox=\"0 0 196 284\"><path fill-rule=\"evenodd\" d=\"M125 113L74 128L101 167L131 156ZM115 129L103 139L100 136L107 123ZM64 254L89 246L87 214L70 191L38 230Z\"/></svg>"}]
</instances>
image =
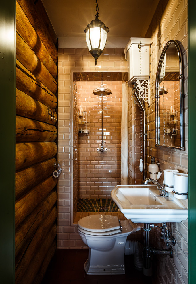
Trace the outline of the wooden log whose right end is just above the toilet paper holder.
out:
<instances>
[{"instance_id":1,"label":"wooden log whose right end is just above the toilet paper holder","mask_svg":"<svg viewBox=\"0 0 196 284\"><path fill-rule=\"evenodd\" d=\"M45 161L57 153L55 142L32 142L16 144L16 170Z\"/></svg>"}]
</instances>

